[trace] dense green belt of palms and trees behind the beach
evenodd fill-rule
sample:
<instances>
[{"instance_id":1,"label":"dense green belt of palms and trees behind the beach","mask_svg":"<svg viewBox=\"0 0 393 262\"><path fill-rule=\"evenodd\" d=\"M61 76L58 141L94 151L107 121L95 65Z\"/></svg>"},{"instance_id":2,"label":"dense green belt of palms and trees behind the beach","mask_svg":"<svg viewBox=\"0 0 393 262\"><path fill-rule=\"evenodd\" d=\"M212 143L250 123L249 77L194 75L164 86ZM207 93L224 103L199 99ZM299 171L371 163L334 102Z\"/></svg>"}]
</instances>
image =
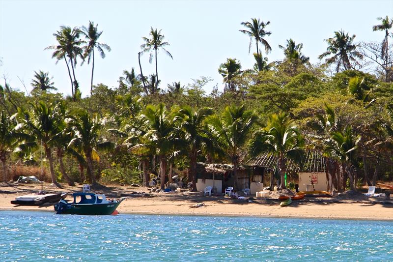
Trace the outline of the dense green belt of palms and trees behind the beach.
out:
<instances>
[{"instance_id":1,"label":"dense green belt of palms and trees behind the beach","mask_svg":"<svg viewBox=\"0 0 393 262\"><path fill-rule=\"evenodd\" d=\"M119 86L93 85L94 50L102 58L111 48L99 42L102 31L62 26L54 36L56 62L64 60L72 88L63 97L48 72L34 72L29 94L0 87L0 161L2 179L17 165L37 166L42 153L51 181L69 185L88 181L144 183L173 174L187 177L196 190L197 162L226 162L237 167L262 152L277 157L283 181L286 162L300 164L305 150L324 153L326 173L338 191L393 177L393 19L378 18L374 31L382 42L355 42L343 30L328 38L322 64L310 64L303 44L288 39L284 58L269 62L270 21L243 22L241 33L255 43L253 68L227 58L218 68L223 92L204 87L211 79L193 79L161 87L157 57L169 46L162 30L150 29L138 52L138 74L124 70ZM84 37L84 39L81 38ZM143 76L141 55L149 53L155 73ZM92 63L90 96L81 97L77 61ZM72 72L72 73L71 73ZM237 179L235 179L237 181ZM285 184L281 183L281 188ZM332 189L332 188L331 188Z\"/></svg>"}]
</instances>

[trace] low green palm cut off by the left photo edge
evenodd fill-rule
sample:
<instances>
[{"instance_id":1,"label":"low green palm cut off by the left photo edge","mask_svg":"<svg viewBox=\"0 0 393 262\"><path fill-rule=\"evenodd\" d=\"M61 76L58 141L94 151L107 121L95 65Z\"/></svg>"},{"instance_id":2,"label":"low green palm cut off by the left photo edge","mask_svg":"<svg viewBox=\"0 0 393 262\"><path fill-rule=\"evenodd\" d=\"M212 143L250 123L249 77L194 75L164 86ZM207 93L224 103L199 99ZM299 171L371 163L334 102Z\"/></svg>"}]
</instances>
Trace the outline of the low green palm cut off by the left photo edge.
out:
<instances>
[{"instance_id":1,"label":"low green palm cut off by the left photo edge","mask_svg":"<svg viewBox=\"0 0 393 262\"><path fill-rule=\"evenodd\" d=\"M7 177L7 160L12 152L20 145L28 135L20 131L20 125L14 117L10 117L1 111L0 114L0 161L3 171L3 182Z\"/></svg>"}]
</instances>

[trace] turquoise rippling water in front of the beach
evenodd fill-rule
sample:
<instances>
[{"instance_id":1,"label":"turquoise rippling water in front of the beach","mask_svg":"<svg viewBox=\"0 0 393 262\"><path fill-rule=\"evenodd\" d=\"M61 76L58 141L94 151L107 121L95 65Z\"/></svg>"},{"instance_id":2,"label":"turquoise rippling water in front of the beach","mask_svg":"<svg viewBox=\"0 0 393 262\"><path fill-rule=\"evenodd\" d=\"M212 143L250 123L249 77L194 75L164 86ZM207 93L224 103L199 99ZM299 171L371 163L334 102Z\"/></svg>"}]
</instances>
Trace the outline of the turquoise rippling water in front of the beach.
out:
<instances>
[{"instance_id":1,"label":"turquoise rippling water in front of the beach","mask_svg":"<svg viewBox=\"0 0 393 262\"><path fill-rule=\"evenodd\" d=\"M393 261L393 223L0 211L0 261Z\"/></svg>"}]
</instances>

